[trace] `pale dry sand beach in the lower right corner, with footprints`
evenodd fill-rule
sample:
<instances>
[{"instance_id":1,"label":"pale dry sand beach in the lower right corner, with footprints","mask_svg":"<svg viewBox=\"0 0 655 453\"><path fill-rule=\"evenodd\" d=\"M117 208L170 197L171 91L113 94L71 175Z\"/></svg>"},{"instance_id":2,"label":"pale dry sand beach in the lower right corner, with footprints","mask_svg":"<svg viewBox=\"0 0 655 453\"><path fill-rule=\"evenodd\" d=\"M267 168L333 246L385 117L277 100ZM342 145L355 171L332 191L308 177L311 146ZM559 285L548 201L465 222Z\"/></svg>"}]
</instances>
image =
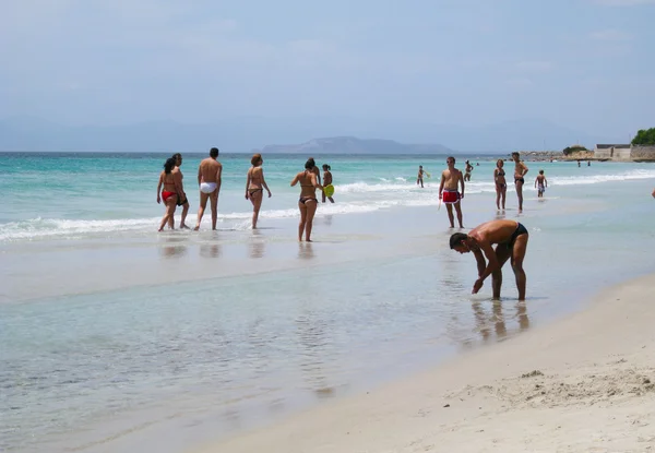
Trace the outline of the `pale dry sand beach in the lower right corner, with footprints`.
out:
<instances>
[{"instance_id":1,"label":"pale dry sand beach in the lower right corner, with footprints","mask_svg":"<svg viewBox=\"0 0 655 453\"><path fill-rule=\"evenodd\" d=\"M655 452L654 295L655 276L639 278L552 325L200 452Z\"/></svg>"}]
</instances>

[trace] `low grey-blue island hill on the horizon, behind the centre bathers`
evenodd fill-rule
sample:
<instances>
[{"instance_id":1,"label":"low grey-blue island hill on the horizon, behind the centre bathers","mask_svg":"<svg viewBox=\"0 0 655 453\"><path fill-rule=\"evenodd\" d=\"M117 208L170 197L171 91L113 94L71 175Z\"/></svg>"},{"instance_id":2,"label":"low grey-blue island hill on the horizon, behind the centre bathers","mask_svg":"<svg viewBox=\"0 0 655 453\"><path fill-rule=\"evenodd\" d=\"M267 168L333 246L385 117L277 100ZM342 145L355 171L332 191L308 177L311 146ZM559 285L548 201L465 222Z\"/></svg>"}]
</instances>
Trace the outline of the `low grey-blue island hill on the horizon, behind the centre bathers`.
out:
<instances>
[{"instance_id":1,"label":"low grey-blue island hill on the horizon, behind the centre bathers","mask_svg":"<svg viewBox=\"0 0 655 453\"><path fill-rule=\"evenodd\" d=\"M259 150L253 150L259 151ZM297 145L266 145L262 154L289 153L303 154L445 154L452 153L440 144L406 145L393 140L362 140L355 136L332 136L313 139Z\"/></svg>"}]
</instances>

